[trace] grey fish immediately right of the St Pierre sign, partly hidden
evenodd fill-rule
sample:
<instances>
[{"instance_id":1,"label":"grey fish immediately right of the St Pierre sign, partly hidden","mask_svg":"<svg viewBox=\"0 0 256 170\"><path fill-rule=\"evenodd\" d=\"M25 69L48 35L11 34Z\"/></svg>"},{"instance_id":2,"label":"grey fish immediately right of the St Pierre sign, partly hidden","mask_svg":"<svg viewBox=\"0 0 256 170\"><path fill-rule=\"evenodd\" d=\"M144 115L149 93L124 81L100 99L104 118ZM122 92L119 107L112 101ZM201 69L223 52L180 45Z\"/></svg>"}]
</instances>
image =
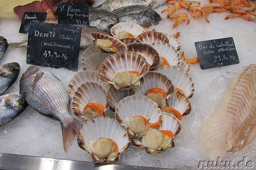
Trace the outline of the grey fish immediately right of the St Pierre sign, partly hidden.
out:
<instances>
[{"instance_id":1,"label":"grey fish immediately right of the St Pierre sign, partly hidden","mask_svg":"<svg viewBox=\"0 0 256 170\"><path fill-rule=\"evenodd\" d=\"M118 23L115 13L105 9L89 8L89 25L110 33L110 29Z\"/></svg>"}]
</instances>

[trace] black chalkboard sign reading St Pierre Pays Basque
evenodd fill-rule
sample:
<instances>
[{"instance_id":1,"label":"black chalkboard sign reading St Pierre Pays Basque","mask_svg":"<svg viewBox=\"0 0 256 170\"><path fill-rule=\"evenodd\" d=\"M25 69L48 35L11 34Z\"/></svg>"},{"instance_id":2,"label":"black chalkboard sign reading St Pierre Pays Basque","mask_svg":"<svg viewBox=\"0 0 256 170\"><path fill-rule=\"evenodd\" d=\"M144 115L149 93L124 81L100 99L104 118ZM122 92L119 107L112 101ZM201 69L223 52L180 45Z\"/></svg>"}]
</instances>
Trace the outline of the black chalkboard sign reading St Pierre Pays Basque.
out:
<instances>
[{"instance_id":1,"label":"black chalkboard sign reading St Pierre Pays Basque","mask_svg":"<svg viewBox=\"0 0 256 170\"><path fill-rule=\"evenodd\" d=\"M88 3L58 3L58 23L89 25Z\"/></svg>"}]
</instances>

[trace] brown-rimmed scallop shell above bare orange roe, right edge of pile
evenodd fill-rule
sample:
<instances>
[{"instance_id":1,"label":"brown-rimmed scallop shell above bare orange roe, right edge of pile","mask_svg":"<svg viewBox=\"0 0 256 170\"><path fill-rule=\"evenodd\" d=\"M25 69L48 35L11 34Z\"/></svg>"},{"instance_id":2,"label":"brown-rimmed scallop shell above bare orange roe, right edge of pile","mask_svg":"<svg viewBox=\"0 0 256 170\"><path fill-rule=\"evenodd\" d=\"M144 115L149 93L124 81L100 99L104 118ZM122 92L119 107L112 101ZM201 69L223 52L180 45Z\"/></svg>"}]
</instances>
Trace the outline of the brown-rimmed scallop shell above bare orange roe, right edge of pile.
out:
<instances>
[{"instance_id":1,"label":"brown-rimmed scallop shell above bare orange roe, right edge of pile","mask_svg":"<svg viewBox=\"0 0 256 170\"><path fill-rule=\"evenodd\" d=\"M182 118L190 114L192 109L191 102L189 101L188 97L186 97L184 93L180 92L179 90L175 90L171 97L169 97L168 101L169 106L178 110Z\"/></svg>"}]
</instances>

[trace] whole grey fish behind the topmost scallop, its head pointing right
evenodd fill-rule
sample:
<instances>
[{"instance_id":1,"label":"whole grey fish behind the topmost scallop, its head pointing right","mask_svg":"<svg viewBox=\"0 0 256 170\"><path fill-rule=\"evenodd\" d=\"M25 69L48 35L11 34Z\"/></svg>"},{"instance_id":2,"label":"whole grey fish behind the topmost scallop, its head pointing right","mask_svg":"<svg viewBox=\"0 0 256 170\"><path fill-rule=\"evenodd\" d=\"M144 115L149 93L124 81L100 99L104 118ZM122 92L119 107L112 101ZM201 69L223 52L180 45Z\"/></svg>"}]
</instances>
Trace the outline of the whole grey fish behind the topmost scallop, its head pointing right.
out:
<instances>
[{"instance_id":1,"label":"whole grey fish behind the topmost scallop, its head pointing right","mask_svg":"<svg viewBox=\"0 0 256 170\"><path fill-rule=\"evenodd\" d=\"M131 5L119 8L115 11L119 22L132 21L140 26L154 26L162 20L160 15L145 5Z\"/></svg>"}]
</instances>

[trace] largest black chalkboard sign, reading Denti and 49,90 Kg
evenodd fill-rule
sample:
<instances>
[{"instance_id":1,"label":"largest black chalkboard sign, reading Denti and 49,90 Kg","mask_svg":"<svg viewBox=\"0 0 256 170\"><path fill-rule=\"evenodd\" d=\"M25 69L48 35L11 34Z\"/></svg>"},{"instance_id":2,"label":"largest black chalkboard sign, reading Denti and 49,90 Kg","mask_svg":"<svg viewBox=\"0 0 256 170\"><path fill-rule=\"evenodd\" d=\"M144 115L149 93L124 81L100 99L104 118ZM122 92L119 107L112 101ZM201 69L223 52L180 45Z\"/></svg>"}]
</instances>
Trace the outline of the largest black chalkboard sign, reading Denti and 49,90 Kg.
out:
<instances>
[{"instance_id":1,"label":"largest black chalkboard sign, reading Denti and 49,90 Kg","mask_svg":"<svg viewBox=\"0 0 256 170\"><path fill-rule=\"evenodd\" d=\"M27 64L77 71L81 26L30 22Z\"/></svg>"}]
</instances>

